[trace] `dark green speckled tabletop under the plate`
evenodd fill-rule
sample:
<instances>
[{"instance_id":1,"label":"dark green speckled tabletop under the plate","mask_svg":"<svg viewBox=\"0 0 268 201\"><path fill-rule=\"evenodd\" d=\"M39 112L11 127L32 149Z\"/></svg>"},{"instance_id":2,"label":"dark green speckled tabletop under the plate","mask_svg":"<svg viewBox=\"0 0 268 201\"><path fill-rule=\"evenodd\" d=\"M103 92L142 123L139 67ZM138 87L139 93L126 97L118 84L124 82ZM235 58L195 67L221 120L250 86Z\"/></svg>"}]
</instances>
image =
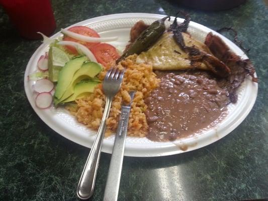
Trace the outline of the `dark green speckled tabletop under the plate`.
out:
<instances>
[{"instance_id":1,"label":"dark green speckled tabletop under the plate","mask_svg":"<svg viewBox=\"0 0 268 201\"><path fill-rule=\"evenodd\" d=\"M55 0L55 32L114 13L175 15L182 9L175 2ZM125 157L119 200L268 197L268 9L263 1L251 0L228 11L185 10L214 30L231 26L238 31L259 78L256 103L240 126L209 146L167 157ZM0 200L78 200L76 186L89 150L46 126L24 92L27 62L41 42L21 38L1 7L0 38ZM103 198L110 158L102 153L90 200Z\"/></svg>"}]
</instances>

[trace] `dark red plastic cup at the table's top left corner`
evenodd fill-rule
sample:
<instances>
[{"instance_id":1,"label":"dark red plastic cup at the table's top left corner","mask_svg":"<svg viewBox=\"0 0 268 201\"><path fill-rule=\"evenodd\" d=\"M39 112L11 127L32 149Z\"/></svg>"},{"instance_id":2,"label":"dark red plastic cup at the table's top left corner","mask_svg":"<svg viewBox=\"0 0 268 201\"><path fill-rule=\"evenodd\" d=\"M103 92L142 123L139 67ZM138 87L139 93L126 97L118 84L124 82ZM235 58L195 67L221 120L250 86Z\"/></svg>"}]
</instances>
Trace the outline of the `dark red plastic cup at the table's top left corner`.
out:
<instances>
[{"instance_id":1,"label":"dark red plastic cup at the table's top left corner","mask_svg":"<svg viewBox=\"0 0 268 201\"><path fill-rule=\"evenodd\" d=\"M27 39L40 39L36 32L49 36L56 29L49 0L0 0L0 4L21 36Z\"/></svg>"}]
</instances>

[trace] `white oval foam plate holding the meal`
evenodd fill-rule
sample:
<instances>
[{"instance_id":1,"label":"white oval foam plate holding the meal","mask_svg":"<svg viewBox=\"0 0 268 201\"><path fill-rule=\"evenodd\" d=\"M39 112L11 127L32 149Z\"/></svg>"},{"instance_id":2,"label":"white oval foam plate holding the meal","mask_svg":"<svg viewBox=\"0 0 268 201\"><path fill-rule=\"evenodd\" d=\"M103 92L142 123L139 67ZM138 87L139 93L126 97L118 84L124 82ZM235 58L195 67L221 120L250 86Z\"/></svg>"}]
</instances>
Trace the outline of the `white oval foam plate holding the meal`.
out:
<instances>
[{"instance_id":1,"label":"white oval foam plate holding the meal","mask_svg":"<svg viewBox=\"0 0 268 201\"><path fill-rule=\"evenodd\" d=\"M72 26L88 26L96 30L102 37L118 36L119 40L111 42L110 44L124 49L129 40L130 29L137 21L143 20L146 24L150 24L163 17L163 15L157 14L125 13L92 18ZM173 20L174 18L172 17L170 22L166 22L166 26L169 26ZM180 23L183 22L183 19L178 18L177 20ZM194 38L200 41L204 41L206 35L209 32L212 32L222 38L222 40L237 55L241 56L243 59L248 58L243 51L230 40L203 25L191 22L188 31ZM60 36L62 36L62 34L58 32L51 38L55 39ZM29 81L27 76L37 70L37 61L39 57L48 51L48 49L48 45L42 44L32 55L25 70L24 87L28 100L36 114L51 129L77 144L91 148L96 131L90 130L78 123L75 118L68 114L64 109L50 108L41 110L35 105L35 93L32 88L34 81ZM127 137L125 156L154 157L173 155L199 149L216 142L232 132L246 118L255 103L257 88L257 83L252 82L251 78L247 77L238 90L238 102L228 106L227 117L216 127L206 130L198 135L173 142L152 142L147 138ZM105 138L102 151L111 153L113 143L114 136Z\"/></svg>"}]
</instances>

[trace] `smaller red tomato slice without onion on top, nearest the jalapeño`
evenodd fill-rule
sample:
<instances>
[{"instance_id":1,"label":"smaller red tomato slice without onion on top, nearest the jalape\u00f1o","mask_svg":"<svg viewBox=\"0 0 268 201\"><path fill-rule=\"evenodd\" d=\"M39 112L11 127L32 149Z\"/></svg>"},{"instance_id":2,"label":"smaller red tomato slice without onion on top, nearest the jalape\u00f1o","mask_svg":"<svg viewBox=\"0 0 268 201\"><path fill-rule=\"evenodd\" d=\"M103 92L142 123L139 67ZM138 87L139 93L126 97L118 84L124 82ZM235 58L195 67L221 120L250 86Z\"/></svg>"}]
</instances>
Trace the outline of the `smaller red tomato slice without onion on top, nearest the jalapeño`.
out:
<instances>
[{"instance_id":1,"label":"smaller red tomato slice without onion on top, nearest the jalape\u00f1o","mask_svg":"<svg viewBox=\"0 0 268 201\"><path fill-rule=\"evenodd\" d=\"M108 66L120 57L116 51L116 48L107 43L100 43L94 47L91 47L90 50L96 57L97 61L104 66Z\"/></svg>"}]
</instances>

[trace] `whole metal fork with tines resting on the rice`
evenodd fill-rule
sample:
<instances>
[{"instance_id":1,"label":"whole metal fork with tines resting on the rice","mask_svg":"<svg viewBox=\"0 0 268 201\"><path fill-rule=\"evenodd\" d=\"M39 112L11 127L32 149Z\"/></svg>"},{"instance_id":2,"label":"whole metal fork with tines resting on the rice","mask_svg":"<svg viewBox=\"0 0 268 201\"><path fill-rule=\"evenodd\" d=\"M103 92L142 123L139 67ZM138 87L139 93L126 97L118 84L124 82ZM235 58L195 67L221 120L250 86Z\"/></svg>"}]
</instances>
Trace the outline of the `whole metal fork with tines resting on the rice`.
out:
<instances>
[{"instance_id":1,"label":"whole metal fork with tines resting on the rice","mask_svg":"<svg viewBox=\"0 0 268 201\"><path fill-rule=\"evenodd\" d=\"M101 155L102 142L106 130L106 119L109 117L112 100L121 87L123 76L124 71L119 70L118 68L111 68L106 73L106 76L104 78L103 90L104 94L106 95L106 105L96 139L93 143L90 154L87 157L82 175L78 183L77 196L80 199L87 199L93 194L99 159Z\"/></svg>"}]
</instances>

